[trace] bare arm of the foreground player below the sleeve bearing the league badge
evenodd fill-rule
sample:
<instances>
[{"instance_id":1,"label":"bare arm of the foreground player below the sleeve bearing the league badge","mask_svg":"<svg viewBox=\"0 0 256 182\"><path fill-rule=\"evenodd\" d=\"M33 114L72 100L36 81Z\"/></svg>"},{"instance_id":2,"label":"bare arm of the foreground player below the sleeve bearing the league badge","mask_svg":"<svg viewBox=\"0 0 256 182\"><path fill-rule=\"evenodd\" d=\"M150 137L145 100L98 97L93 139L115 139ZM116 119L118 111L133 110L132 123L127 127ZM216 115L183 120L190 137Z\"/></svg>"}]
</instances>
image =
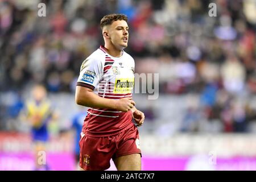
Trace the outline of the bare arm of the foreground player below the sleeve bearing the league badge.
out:
<instances>
[{"instance_id":1,"label":"bare arm of the foreground player below the sleeve bearing the league badge","mask_svg":"<svg viewBox=\"0 0 256 182\"><path fill-rule=\"evenodd\" d=\"M76 104L86 107L116 109L126 112L134 107L135 102L131 100L131 98L122 98L121 100L102 98L93 93L93 90L90 88L76 86Z\"/></svg>"}]
</instances>

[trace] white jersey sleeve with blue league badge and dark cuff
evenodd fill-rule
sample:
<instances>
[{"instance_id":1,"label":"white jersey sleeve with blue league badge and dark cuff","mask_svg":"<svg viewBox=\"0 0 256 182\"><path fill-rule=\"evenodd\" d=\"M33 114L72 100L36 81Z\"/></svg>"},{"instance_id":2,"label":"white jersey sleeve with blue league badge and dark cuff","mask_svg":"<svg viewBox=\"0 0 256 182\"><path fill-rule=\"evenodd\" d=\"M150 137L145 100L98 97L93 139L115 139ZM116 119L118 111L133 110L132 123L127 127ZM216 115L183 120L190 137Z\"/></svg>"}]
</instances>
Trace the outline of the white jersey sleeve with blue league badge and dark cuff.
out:
<instances>
[{"instance_id":1,"label":"white jersey sleeve with blue league badge and dark cuff","mask_svg":"<svg viewBox=\"0 0 256 182\"><path fill-rule=\"evenodd\" d=\"M100 81L101 73L101 61L88 57L81 65L77 86L84 86L94 90Z\"/></svg>"}]
</instances>

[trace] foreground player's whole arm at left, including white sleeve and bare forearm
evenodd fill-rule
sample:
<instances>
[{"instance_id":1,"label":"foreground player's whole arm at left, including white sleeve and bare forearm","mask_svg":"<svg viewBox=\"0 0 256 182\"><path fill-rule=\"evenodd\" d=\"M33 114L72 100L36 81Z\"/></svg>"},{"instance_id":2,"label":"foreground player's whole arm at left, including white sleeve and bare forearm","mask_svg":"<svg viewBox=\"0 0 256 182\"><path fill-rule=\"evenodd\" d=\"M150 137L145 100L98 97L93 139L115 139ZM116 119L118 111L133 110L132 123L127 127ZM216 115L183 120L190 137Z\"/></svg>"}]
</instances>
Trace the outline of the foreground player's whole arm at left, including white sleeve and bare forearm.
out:
<instances>
[{"instance_id":1,"label":"foreground player's whole arm at left, including white sleeve and bare forearm","mask_svg":"<svg viewBox=\"0 0 256 182\"><path fill-rule=\"evenodd\" d=\"M88 59L82 63L76 86L76 104L86 107L116 109L118 111L131 110L135 105L135 102L131 100L131 98L112 100L102 98L93 92L95 86L100 81L103 67L104 63L101 59L95 59L92 56L89 56Z\"/></svg>"}]
</instances>

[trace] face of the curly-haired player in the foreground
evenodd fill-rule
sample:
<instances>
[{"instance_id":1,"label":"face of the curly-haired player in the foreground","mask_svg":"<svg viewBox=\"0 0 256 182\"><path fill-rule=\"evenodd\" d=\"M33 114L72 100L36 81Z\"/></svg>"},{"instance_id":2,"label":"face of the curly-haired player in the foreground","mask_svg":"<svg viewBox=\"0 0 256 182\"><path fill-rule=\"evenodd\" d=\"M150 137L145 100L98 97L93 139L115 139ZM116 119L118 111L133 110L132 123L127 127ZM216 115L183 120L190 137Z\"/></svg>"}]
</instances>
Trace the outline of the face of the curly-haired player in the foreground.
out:
<instances>
[{"instance_id":1,"label":"face of the curly-haired player in the foreground","mask_svg":"<svg viewBox=\"0 0 256 182\"><path fill-rule=\"evenodd\" d=\"M112 44L118 49L127 47L129 33L129 27L125 20L114 21L109 30L109 36Z\"/></svg>"}]
</instances>

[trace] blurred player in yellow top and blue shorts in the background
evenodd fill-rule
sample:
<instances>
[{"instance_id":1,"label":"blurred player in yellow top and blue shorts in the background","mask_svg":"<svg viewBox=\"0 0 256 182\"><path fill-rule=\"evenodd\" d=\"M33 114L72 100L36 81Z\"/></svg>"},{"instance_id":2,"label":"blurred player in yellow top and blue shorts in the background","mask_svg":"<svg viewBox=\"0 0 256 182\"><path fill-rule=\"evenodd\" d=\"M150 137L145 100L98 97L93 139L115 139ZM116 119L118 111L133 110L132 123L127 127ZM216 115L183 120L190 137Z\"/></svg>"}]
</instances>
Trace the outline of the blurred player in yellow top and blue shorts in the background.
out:
<instances>
[{"instance_id":1,"label":"blurred player in yellow top and blue shorts in the background","mask_svg":"<svg viewBox=\"0 0 256 182\"><path fill-rule=\"evenodd\" d=\"M32 88L31 99L26 101L24 114L28 125L31 127L31 137L35 155L35 170L49 170L47 164L39 162L40 151L46 152L49 140L49 122L57 118L53 111L51 101L47 98L47 90L43 85L35 85Z\"/></svg>"}]
</instances>

